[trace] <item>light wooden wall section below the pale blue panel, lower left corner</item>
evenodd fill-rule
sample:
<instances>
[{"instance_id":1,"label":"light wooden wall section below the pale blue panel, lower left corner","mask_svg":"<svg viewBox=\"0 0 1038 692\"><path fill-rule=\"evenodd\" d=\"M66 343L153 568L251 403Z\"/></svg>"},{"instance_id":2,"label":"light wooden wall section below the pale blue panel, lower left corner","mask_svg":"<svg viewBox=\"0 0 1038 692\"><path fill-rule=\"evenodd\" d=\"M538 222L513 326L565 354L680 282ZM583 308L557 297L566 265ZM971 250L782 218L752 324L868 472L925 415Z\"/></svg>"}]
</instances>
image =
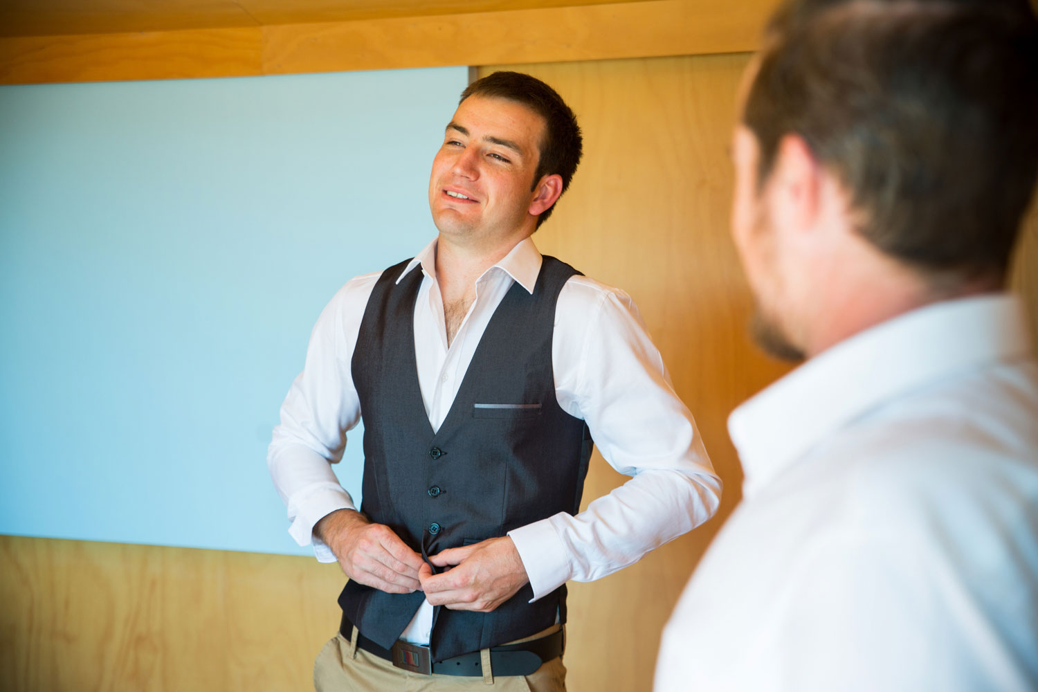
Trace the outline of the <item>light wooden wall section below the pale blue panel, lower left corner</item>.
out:
<instances>
[{"instance_id":1,"label":"light wooden wall section below the pale blue panel, lower left corner","mask_svg":"<svg viewBox=\"0 0 1038 692\"><path fill-rule=\"evenodd\" d=\"M311 689L344 579L305 557L0 536L0 689Z\"/></svg>"}]
</instances>

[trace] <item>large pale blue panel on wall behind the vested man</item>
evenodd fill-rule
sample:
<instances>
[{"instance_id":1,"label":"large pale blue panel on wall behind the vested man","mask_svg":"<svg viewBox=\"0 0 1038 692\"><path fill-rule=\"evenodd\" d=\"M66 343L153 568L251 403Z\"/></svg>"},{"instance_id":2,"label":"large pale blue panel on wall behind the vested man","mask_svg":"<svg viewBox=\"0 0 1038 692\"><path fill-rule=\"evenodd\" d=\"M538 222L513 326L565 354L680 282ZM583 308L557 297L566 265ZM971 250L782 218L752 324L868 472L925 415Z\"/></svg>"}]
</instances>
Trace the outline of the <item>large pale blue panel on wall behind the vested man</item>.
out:
<instances>
[{"instance_id":1,"label":"large pale blue panel on wall behind the vested man","mask_svg":"<svg viewBox=\"0 0 1038 692\"><path fill-rule=\"evenodd\" d=\"M0 533L310 554L271 430L335 290L433 238L467 76L0 87Z\"/></svg>"}]
</instances>

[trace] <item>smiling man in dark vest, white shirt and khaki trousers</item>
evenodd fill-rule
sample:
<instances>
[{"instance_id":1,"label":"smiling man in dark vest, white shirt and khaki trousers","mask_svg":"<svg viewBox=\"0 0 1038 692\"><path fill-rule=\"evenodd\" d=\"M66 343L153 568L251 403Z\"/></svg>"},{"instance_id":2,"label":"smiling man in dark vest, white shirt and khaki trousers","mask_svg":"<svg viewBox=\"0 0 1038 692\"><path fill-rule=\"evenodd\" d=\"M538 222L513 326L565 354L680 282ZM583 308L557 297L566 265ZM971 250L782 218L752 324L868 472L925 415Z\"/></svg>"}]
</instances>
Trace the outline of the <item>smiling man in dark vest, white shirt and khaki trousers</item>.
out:
<instances>
[{"instance_id":1,"label":"smiling man in dark vest, white shirt and khaki trousers","mask_svg":"<svg viewBox=\"0 0 1038 692\"><path fill-rule=\"evenodd\" d=\"M433 161L437 239L349 281L313 329L268 464L292 535L350 577L319 690L562 690L566 581L716 510L720 482L630 298L530 240L580 151L543 82L471 84ZM357 511L329 463L361 416ZM579 513L592 437L633 477Z\"/></svg>"}]
</instances>

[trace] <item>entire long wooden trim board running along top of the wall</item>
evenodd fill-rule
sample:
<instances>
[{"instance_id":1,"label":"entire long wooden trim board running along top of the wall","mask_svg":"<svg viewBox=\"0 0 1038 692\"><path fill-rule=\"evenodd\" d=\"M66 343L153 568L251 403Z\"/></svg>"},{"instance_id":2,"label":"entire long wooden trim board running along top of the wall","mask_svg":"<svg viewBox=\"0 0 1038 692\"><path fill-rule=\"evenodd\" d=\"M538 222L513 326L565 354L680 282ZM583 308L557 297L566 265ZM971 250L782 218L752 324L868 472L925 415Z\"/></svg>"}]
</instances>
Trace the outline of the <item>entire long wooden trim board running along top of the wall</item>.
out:
<instances>
[{"instance_id":1,"label":"entire long wooden trim board running along top of the wall","mask_svg":"<svg viewBox=\"0 0 1038 692\"><path fill-rule=\"evenodd\" d=\"M0 84L734 53L773 0L650 0L321 24L0 39Z\"/></svg>"}]
</instances>

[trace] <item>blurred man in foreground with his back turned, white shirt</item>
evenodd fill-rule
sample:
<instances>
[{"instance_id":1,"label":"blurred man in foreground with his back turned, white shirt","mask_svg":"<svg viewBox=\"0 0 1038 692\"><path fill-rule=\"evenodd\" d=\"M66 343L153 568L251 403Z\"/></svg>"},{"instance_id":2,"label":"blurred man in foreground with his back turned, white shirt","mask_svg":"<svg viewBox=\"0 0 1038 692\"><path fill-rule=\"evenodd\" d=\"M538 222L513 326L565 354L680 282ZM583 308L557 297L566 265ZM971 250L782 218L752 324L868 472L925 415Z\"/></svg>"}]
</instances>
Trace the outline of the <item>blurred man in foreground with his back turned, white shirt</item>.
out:
<instances>
[{"instance_id":1,"label":"blurred man in foreground with his back turned, white shirt","mask_svg":"<svg viewBox=\"0 0 1038 692\"><path fill-rule=\"evenodd\" d=\"M1038 168L1026 2L792 2L750 66L733 234L809 360L729 420L744 499L655 689L1038 689L1038 369L1004 293Z\"/></svg>"}]
</instances>

